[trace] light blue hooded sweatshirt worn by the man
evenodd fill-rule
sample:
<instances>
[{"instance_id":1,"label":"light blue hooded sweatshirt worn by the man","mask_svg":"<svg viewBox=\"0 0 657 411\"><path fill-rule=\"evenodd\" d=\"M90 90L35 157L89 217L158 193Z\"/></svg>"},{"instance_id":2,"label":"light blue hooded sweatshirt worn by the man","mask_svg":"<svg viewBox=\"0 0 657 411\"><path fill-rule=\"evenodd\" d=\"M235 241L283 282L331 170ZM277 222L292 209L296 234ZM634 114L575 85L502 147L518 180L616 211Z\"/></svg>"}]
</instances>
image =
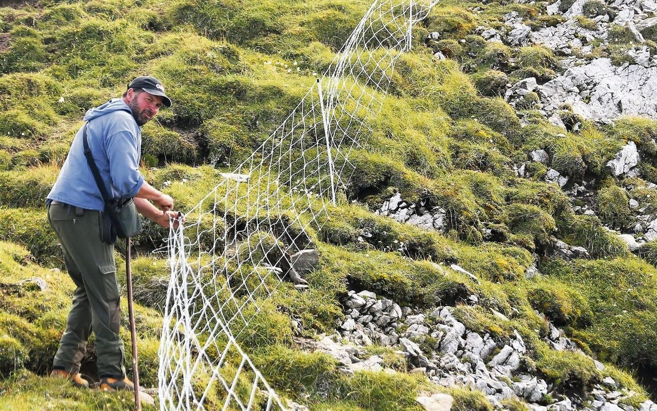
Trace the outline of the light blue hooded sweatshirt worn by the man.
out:
<instances>
[{"instance_id":1,"label":"light blue hooded sweatshirt worn by the man","mask_svg":"<svg viewBox=\"0 0 657 411\"><path fill-rule=\"evenodd\" d=\"M139 173L141 129L132 111L120 98L91 108L87 121L87 141L93 160L110 196L131 198L144 184ZM84 127L83 127L84 128ZM84 156L82 129L73 139L66 161L47 197L49 200L103 211L104 201Z\"/></svg>"}]
</instances>

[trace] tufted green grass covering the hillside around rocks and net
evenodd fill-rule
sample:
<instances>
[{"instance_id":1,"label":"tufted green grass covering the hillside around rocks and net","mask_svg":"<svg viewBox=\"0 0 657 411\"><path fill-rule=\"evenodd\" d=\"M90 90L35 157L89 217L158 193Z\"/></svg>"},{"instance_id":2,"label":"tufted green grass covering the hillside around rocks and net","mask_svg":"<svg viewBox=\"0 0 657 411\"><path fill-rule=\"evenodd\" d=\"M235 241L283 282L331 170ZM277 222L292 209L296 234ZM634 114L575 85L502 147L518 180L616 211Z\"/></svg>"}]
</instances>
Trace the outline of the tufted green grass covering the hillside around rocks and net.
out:
<instances>
[{"instance_id":1,"label":"tufted green grass covering the hillside around rocks and net","mask_svg":"<svg viewBox=\"0 0 657 411\"><path fill-rule=\"evenodd\" d=\"M286 118L368 7L360 0L43 0L0 7L0 409L32 410L43 402L51 410L129 408L129 395L80 392L44 377L73 286L43 204L85 110L120 95L135 76L164 82L174 105L143 127L142 171L185 211ZM368 119L369 141L351 154L358 178L310 233L321 264L307 278L309 290L283 284L240 337L279 393L313 410L421 410L419 393L445 391L410 373L391 349L371 348L386 353L396 374L346 376L334 358L300 345L300 337L335 332L349 290L369 290L418 312L457 307L468 329L498 341L517 330L527 344L525 369L551 381L557 394L586 395L612 376L633 391L627 404L648 397L635 376L640 365L648 375L657 370L657 248L648 243L633 254L605 227L636 223L629 198L654 212L657 122L582 121L566 131L541 117L531 96L517 112L499 97L506 83L553 76L559 57L541 46L486 42L475 29L501 24L509 11L532 24L554 24L544 7L448 0L416 28L415 47L401 56L382 112ZM440 32L440 41L426 40L430 32ZM436 60L436 51L449 59ZM575 115L566 107L562 116ZM640 147L641 175L615 178L605 164L628 141ZM528 163L529 177L516 177L514 165L538 149L549 154L549 165ZM591 196L569 198L545 183L548 168L591 181ZM445 228L374 215L396 192L444 209ZM580 213L583 204L595 215ZM363 230L371 236L363 238ZM152 251L166 235L146 224L134 239L140 374L148 387L157 385L168 278L168 264ZM590 258L551 255L553 238L586 248ZM447 269L453 263L478 281ZM542 275L526 278L532 265ZM33 277L47 287L22 282ZM604 370L589 357L549 347L548 320ZM127 329L123 334L129 341ZM92 374L94 359L91 349L85 364ZM492 409L479 391L447 391L459 410Z\"/></svg>"}]
</instances>

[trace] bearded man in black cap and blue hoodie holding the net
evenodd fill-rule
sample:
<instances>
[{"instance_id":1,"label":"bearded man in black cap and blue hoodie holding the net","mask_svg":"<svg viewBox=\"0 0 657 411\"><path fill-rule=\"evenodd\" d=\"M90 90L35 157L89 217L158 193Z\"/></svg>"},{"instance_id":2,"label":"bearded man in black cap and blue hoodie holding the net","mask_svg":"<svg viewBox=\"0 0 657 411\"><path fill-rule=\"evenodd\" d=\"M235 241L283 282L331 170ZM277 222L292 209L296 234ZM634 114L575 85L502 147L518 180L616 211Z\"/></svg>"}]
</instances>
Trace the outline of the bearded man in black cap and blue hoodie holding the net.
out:
<instances>
[{"instance_id":1,"label":"bearded man in black cap and blue hoodie holding the net","mask_svg":"<svg viewBox=\"0 0 657 411\"><path fill-rule=\"evenodd\" d=\"M122 98L92 108L84 119L89 148L109 195L134 197L139 213L169 227L171 219L178 216L172 211L173 199L146 183L139 173L140 127L162 105L171 106L162 83L142 76L131 81ZM125 376L124 344L119 337L114 245L101 241L104 200L84 156L82 135L80 129L47 196L48 221L62 244L66 270L77 286L51 376L89 387L79 368L93 330L101 389L133 390L133 383Z\"/></svg>"}]
</instances>

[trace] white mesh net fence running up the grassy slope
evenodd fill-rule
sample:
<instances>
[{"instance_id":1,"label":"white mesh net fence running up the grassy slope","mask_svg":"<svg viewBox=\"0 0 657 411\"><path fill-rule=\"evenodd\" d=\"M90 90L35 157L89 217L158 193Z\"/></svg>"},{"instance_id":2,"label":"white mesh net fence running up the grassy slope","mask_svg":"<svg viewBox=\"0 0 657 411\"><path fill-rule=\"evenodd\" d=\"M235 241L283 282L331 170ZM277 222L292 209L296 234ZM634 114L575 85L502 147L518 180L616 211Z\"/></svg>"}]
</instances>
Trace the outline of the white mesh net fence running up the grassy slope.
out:
<instances>
[{"instance_id":1,"label":"white mesh net fence running up the grassy slope","mask_svg":"<svg viewBox=\"0 0 657 411\"><path fill-rule=\"evenodd\" d=\"M171 230L161 410L286 409L239 336L284 278L298 278L307 232L352 178L350 152L367 141L411 28L435 3L375 1L283 124Z\"/></svg>"}]
</instances>

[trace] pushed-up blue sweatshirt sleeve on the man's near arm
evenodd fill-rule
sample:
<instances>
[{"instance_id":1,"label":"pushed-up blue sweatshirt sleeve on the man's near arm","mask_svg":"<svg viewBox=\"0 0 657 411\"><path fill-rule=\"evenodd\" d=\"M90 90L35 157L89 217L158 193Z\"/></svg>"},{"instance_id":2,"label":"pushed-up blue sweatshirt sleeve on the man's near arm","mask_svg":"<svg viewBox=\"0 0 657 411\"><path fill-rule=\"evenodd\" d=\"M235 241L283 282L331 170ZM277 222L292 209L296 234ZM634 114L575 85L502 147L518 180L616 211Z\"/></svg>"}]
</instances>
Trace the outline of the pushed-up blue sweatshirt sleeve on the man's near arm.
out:
<instances>
[{"instance_id":1,"label":"pushed-up blue sweatshirt sleeve on the man's near arm","mask_svg":"<svg viewBox=\"0 0 657 411\"><path fill-rule=\"evenodd\" d=\"M112 184L124 198L134 197L144 184L144 177L139 173L137 136L129 131L110 135L106 151Z\"/></svg>"}]
</instances>

